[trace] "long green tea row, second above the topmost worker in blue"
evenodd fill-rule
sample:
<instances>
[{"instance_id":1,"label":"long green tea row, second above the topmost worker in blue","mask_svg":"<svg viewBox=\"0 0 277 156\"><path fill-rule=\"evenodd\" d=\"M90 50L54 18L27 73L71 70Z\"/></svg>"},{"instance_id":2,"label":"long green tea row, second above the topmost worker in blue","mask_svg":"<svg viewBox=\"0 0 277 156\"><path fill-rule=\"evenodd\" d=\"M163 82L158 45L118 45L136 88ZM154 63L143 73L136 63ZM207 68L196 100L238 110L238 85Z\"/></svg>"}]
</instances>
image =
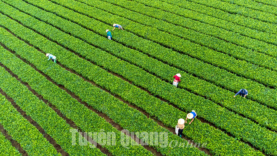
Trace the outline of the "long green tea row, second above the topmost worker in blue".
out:
<instances>
[{"instance_id":1,"label":"long green tea row, second above the topmost worker in blue","mask_svg":"<svg viewBox=\"0 0 277 156\"><path fill-rule=\"evenodd\" d=\"M82 1L83 3L100 8L100 9L110 12L112 14L116 14L118 16L123 16L132 21L157 28L157 29L160 29L165 32L169 32L171 34L174 34L181 38L188 39L190 41L204 45L206 47L216 49L217 51L221 51L228 55L232 55L233 57L239 58L240 60L245 60L247 62L256 64L256 65L259 65L259 66L262 66L265 68L269 68L272 70L277 70L276 57L258 53L256 51L252 51L250 49L246 49L246 48L237 46L230 42L225 42L223 40L214 38L209 35L201 34L199 32L196 32L196 31L193 31L190 29L186 29L184 27L175 26L175 25L169 24L165 21L151 18L149 16L144 16L139 13L135 13L130 10L127 10L127 9L124 9L124 8L121 8L121 7L118 7L118 6L112 5L110 3L103 2L103 1L98 1L98 0L93 0L93 1L78 0L78 1ZM106 0L106 1L113 1L113 0ZM117 1L117 2L121 5L123 4L121 1L120 2ZM132 8L137 8L137 7L133 6ZM140 12L149 12L149 10L145 10L145 8L137 8L137 9L140 10ZM160 14L160 18L164 18L164 15ZM184 21L184 20L182 20L182 21ZM179 22L177 22L177 23L179 23ZM205 30L209 30L209 28L207 28ZM236 36L230 35L230 34L227 36L237 38ZM277 36L276 36L276 38L277 38Z\"/></svg>"}]
</instances>

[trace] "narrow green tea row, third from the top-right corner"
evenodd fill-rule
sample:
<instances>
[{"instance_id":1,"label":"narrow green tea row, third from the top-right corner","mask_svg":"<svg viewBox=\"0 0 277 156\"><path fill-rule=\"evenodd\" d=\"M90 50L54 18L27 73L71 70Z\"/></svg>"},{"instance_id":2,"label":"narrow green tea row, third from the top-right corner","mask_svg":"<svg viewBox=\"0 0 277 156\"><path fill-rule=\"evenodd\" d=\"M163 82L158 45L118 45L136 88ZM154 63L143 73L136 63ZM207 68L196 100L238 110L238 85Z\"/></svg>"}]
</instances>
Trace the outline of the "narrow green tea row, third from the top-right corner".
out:
<instances>
[{"instance_id":1,"label":"narrow green tea row, third from the top-right corner","mask_svg":"<svg viewBox=\"0 0 277 156\"><path fill-rule=\"evenodd\" d=\"M209 1L201 1L201 0L188 0L194 3L206 5L212 8L220 9L230 14L240 14L246 17L251 17L254 19L258 19L267 23L277 23L277 16L273 14L268 14L266 12L261 12L258 10L253 10L245 7L241 7L235 4L230 4L227 2L217 1L217 0L209 0Z\"/></svg>"}]
</instances>

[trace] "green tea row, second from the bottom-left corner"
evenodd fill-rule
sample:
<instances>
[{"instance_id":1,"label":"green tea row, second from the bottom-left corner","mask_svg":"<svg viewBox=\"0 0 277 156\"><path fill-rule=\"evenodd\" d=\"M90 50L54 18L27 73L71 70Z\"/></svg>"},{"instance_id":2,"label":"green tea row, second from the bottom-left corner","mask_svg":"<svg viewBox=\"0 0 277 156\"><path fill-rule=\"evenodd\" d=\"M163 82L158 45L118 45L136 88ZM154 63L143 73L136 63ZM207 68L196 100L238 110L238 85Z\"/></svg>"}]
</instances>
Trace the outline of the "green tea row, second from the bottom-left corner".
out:
<instances>
[{"instance_id":1,"label":"green tea row, second from the bottom-left corner","mask_svg":"<svg viewBox=\"0 0 277 156\"><path fill-rule=\"evenodd\" d=\"M2 53L3 47L0 48ZM0 68L1 76L3 77L5 74L2 75L4 73L2 71L5 69L3 67ZM29 156L61 156L61 153L58 153L38 129L17 112L2 94L0 94L0 123Z\"/></svg>"}]
</instances>

